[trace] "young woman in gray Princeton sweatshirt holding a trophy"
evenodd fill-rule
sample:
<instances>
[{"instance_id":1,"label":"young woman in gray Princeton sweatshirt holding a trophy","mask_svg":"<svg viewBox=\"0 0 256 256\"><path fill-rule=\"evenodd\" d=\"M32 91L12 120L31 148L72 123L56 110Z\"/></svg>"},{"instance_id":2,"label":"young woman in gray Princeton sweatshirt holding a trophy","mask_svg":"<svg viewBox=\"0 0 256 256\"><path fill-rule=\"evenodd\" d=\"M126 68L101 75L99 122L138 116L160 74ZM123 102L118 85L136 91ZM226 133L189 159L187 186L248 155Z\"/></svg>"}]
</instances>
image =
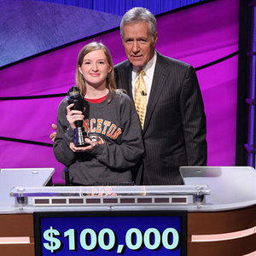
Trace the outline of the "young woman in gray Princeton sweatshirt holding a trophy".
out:
<instances>
[{"instance_id":1,"label":"young woman in gray Princeton sweatshirt holding a trophy","mask_svg":"<svg viewBox=\"0 0 256 256\"><path fill-rule=\"evenodd\" d=\"M141 126L129 96L116 90L113 61L102 43L81 49L76 84L88 107L84 113L71 110L64 99L57 115L55 158L68 166L70 180L84 185L131 182L131 167L143 154ZM84 120L89 145L73 144L74 122Z\"/></svg>"}]
</instances>

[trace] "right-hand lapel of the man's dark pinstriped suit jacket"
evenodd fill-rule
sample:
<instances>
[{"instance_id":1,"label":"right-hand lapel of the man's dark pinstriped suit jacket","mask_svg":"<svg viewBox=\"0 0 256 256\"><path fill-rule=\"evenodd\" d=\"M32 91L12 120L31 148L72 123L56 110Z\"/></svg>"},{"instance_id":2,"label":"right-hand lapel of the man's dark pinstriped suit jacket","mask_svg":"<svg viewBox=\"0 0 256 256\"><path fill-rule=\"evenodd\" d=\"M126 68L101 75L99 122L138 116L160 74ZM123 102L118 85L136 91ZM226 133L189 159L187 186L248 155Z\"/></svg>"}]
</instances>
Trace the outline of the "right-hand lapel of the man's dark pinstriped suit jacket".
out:
<instances>
[{"instance_id":1,"label":"right-hand lapel of the man's dark pinstriped suit jacket","mask_svg":"<svg viewBox=\"0 0 256 256\"><path fill-rule=\"evenodd\" d=\"M143 134L145 133L145 131L147 131L148 124L152 117L152 113L154 112L155 104L160 98L162 87L166 81L167 71L165 67L166 62L164 61L164 58L159 53L157 53L157 60L154 68L154 78L148 98L147 112L143 126Z\"/></svg>"}]
</instances>

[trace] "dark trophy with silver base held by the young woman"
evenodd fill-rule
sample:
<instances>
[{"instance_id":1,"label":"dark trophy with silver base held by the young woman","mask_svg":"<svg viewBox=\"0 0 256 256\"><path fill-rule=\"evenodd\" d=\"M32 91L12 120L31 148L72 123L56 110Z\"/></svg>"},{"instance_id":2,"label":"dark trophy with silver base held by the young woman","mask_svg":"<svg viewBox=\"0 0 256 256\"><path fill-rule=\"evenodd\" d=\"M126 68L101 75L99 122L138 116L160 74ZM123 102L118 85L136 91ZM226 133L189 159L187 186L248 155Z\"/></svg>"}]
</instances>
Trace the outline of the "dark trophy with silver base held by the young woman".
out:
<instances>
[{"instance_id":1,"label":"dark trophy with silver base held by the young woman","mask_svg":"<svg viewBox=\"0 0 256 256\"><path fill-rule=\"evenodd\" d=\"M83 94L76 86L71 87L67 92L68 104L74 104L71 110L79 110L84 113L85 100ZM84 138L88 137L86 131L84 131L83 120L75 121L76 128L73 134L73 143L76 147L88 146L88 143L84 142Z\"/></svg>"}]
</instances>

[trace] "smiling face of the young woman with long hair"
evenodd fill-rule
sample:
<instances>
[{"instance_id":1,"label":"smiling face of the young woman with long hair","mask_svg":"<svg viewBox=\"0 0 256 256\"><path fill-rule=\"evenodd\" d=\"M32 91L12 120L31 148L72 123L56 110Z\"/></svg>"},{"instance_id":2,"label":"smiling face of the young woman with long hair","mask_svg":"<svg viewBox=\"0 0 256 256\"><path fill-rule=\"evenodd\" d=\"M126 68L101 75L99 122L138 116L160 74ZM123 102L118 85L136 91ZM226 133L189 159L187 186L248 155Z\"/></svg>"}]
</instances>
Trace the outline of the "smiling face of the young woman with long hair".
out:
<instances>
[{"instance_id":1,"label":"smiling face of the young woman with long hair","mask_svg":"<svg viewBox=\"0 0 256 256\"><path fill-rule=\"evenodd\" d=\"M79 72L83 74L86 85L90 84L97 88L102 84L106 86L106 79L111 69L104 51L96 49L84 55Z\"/></svg>"}]
</instances>

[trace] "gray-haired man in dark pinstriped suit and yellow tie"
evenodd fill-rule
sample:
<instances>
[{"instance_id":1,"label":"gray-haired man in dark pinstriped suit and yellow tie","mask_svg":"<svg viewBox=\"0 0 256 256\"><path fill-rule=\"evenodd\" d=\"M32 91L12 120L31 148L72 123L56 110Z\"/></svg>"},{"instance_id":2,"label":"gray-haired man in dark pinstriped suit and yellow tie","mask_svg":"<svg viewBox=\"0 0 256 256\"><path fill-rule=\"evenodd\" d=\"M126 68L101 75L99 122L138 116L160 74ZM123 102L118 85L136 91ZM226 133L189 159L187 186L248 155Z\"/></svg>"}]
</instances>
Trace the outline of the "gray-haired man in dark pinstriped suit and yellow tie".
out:
<instances>
[{"instance_id":1,"label":"gray-haired man in dark pinstriped suit and yellow tie","mask_svg":"<svg viewBox=\"0 0 256 256\"><path fill-rule=\"evenodd\" d=\"M137 80L144 72L145 116L139 106L137 112L145 154L137 183L182 184L179 166L207 165L206 116L194 68L155 51L155 24L148 9L125 13L120 30L127 60L114 67L115 79L137 107Z\"/></svg>"}]
</instances>

